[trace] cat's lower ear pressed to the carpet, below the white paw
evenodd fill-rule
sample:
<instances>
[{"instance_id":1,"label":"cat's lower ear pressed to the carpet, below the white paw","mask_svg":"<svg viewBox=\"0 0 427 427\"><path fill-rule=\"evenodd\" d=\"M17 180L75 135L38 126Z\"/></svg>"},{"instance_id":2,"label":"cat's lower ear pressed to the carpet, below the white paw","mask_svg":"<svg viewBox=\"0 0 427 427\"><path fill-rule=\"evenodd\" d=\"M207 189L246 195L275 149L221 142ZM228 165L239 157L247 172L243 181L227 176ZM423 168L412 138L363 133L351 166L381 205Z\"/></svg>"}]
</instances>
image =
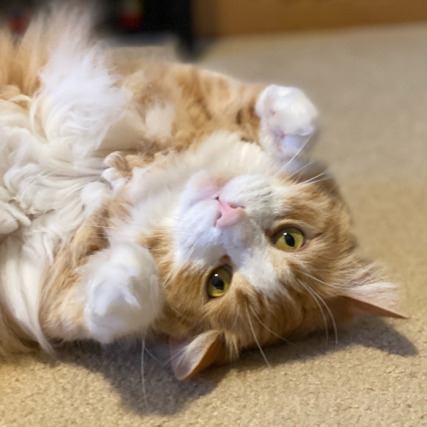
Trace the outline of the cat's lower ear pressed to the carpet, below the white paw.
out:
<instances>
[{"instance_id":1,"label":"cat's lower ear pressed to the carpet, below the white paw","mask_svg":"<svg viewBox=\"0 0 427 427\"><path fill-rule=\"evenodd\" d=\"M169 338L169 350L176 379L183 380L223 359L226 342L221 332L213 330L191 341Z\"/></svg>"}]
</instances>

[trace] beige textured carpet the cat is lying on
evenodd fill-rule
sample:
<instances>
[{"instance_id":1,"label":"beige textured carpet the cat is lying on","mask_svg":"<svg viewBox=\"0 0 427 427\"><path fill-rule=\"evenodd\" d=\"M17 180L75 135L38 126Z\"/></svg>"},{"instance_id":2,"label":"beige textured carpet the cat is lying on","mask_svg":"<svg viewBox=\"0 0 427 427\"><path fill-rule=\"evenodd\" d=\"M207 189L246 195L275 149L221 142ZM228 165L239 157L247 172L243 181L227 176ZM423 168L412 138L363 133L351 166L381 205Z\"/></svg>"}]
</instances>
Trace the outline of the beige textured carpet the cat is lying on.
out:
<instances>
[{"instance_id":1,"label":"beige textured carpet the cat is lying on","mask_svg":"<svg viewBox=\"0 0 427 427\"><path fill-rule=\"evenodd\" d=\"M201 65L298 85L323 116L316 155L362 246L402 285L407 321L364 320L177 382L140 347L0 365L0 426L427 426L427 25L220 41Z\"/></svg>"}]
</instances>

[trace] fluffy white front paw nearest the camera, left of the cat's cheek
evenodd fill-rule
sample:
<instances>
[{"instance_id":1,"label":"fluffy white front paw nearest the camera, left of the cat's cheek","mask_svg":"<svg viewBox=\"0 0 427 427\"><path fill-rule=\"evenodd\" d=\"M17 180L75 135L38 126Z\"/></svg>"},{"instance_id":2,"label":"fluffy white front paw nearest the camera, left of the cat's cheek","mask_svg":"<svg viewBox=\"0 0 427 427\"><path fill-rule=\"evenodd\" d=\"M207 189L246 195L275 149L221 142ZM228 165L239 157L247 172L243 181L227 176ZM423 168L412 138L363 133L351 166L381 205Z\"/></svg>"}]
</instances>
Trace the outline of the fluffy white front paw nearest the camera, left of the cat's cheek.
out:
<instances>
[{"instance_id":1,"label":"fluffy white front paw nearest the camera, left of the cat's cheek","mask_svg":"<svg viewBox=\"0 0 427 427\"><path fill-rule=\"evenodd\" d=\"M97 341L143 332L159 315L157 265L146 248L120 243L93 255L81 273L85 322Z\"/></svg>"}]
</instances>

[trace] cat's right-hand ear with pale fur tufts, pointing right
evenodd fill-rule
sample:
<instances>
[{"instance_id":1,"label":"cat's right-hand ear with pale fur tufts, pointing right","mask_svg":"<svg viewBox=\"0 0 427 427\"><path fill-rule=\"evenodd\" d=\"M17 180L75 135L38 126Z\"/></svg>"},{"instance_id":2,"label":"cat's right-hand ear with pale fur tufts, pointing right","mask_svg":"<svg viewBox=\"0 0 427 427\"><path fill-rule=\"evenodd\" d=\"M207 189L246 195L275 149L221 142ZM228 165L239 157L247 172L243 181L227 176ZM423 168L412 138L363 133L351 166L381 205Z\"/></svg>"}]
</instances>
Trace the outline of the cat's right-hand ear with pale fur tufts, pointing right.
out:
<instances>
[{"instance_id":1,"label":"cat's right-hand ear with pale fur tufts, pointing right","mask_svg":"<svg viewBox=\"0 0 427 427\"><path fill-rule=\"evenodd\" d=\"M338 297L337 305L349 315L369 315L407 319L398 306L396 285L376 282L355 286Z\"/></svg>"}]
</instances>

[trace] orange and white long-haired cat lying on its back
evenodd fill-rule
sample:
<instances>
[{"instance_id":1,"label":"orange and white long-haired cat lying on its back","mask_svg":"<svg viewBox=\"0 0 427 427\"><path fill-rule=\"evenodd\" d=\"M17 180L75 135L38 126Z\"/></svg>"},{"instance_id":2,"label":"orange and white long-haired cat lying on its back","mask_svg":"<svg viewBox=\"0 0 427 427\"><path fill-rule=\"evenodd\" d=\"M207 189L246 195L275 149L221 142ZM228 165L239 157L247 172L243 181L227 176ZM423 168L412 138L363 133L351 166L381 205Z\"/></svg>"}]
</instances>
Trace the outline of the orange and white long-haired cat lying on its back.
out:
<instances>
[{"instance_id":1,"label":"orange and white long-haired cat lying on its back","mask_svg":"<svg viewBox=\"0 0 427 427\"><path fill-rule=\"evenodd\" d=\"M0 36L0 352L169 340L186 379L242 349L404 317L307 160L297 88L115 62L83 18Z\"/></svg>"}]
</instances>

